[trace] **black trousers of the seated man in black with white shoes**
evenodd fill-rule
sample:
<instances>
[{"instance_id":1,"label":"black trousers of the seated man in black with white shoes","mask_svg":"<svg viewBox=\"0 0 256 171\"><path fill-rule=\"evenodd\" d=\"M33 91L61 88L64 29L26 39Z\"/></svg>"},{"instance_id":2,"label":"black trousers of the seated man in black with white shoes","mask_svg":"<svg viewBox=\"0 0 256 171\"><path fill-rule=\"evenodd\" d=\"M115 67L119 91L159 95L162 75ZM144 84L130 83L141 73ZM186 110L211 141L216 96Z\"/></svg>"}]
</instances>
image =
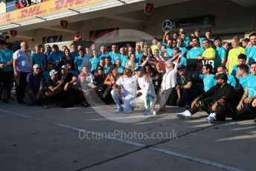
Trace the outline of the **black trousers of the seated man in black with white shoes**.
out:
<instances>
[{"instance_id":1,"label":"black trousers of the seated man in black with white shoes","mask_svg":"<svg viewBox=\"0 0 256 171\"><path fill-rule=\"evenodd\" d=\"M191 114L195 114L196 112L199 112L200 109L204 110L208 114L213 113L211 110L211 106L214 104L214 99L212 97L205 98L204 100L201 100L201 106L193 106L192 109L189 109ZM230 104L223 103L217 106L216 111L214 112L217 114L217 120L225 120L225 117L230 116L234 117L234 111Z\"/></svg>"}]
</instances>

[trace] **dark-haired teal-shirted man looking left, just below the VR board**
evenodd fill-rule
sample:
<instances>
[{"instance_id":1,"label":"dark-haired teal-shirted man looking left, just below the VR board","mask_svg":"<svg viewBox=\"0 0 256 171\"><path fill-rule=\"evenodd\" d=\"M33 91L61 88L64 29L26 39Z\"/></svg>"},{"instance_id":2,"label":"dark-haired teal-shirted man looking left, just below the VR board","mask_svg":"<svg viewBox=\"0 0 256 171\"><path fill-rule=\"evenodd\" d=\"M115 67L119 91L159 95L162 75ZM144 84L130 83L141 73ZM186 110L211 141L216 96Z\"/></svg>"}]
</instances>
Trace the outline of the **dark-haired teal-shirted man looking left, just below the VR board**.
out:
<instances>
[{"instance_id":1,"label":"dark-haired teal-shirted man looking left, just below the VR board","mask_svg":"<svg viewBox=\"0 0 256 171\"><path fill-rule=\"evenodd\" d=\"M211 87L216 85L216 80L214 79L214 74L211 74L213 70L212 65L206 64L202 66L202 74L199 77L202 79L204 83L204 90L208 91Z\"/></svg>"}]
</instances>

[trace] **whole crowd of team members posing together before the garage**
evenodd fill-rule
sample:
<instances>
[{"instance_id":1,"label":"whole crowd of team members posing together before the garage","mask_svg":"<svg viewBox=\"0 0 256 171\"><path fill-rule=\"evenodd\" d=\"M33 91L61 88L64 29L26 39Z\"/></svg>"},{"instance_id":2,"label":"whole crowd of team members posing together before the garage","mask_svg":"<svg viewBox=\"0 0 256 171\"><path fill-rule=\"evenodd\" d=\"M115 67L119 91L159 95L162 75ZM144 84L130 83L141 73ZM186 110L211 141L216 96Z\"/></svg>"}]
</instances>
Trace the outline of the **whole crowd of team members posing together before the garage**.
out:
<instances>
[{"instance_id":1,"label":"whole crowd of team members posing together before the garage","mask_svg":"<svg viewBox=\"0 0 256 171\"><path fill-rule=\"evenodd\" d=\"M35 45L31 54L28 43L21 42L21 49L13 54L0 42L1 99L8 102L14 75L17 100L28 105L89 106L86 98L96 94L106 103L115 103L117 113L138 108L144 115L161 114L170 102L185 106L179 118L190 119L199 109L208 112L210 123L225 117L254 118L256 33L241 45L234 36L232 48L220 37L211 37L211 30L205 31L205 37L199 33L195 29L187 36L180 28L179 33L164 33L162 41L138 41L135 47L120 48L113 44L110 52L106 45L83 47L77 41L71 50L64 46L63 51L58 45ZM212 62L193 74L187 70L188 60Z\"/></svg>"}]
</instances>

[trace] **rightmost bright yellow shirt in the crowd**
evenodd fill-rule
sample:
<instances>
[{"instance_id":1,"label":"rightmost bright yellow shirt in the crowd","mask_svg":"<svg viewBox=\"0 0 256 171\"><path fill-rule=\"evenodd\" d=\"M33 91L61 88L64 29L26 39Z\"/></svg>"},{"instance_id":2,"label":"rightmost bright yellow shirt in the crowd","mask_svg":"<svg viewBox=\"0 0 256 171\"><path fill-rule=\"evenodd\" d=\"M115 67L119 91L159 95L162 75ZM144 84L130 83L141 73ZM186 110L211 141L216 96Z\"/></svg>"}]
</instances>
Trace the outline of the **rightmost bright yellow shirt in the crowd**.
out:
<instances>
[{"instance_id":1,"label":"rightmost bright yellow shirt in the crowd","mask_svg":"<svg viewBox=\"0 0 256 171\"><path fill-rule=\"evenodd\" d=\"M234 65L238 65L238 55L246 54L246 50L242 47L232 48L228 52L228 73L231 74Z\"/></svg>"}]
</instances>

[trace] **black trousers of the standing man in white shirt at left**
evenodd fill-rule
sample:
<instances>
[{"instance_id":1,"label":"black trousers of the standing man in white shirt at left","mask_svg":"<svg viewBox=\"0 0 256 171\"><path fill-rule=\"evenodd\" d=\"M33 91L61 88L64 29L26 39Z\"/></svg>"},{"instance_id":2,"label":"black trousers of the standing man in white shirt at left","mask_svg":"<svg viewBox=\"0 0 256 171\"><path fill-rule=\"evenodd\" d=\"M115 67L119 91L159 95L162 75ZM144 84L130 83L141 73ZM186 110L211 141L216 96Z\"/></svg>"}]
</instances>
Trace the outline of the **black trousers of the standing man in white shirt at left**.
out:
<instances>
[{"instance_id":1,"label":"black trousers of the standing man in white shirt at left","mask_svg":"<svg viewBox=\"0 0 256 171\"><path fill-rule=\"evenodd\" d=\"M25 88L27 85L27 76L28 72L22 72L19 71L18 76L16 77L16 82L17 82L17 100L18 102L22 102L22 100L25 97Z\"/></svg>"}]
</instances>

